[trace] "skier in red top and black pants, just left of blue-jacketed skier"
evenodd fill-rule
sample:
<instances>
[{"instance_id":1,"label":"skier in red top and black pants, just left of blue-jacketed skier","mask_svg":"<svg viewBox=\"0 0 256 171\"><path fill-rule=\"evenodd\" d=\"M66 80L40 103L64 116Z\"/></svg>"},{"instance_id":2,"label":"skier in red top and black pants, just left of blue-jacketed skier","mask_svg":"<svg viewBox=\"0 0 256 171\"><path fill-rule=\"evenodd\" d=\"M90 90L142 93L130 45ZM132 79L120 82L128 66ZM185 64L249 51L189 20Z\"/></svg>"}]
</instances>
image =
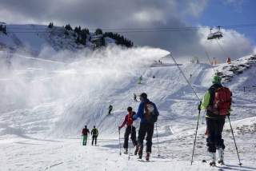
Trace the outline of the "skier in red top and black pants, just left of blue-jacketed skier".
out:
<instances>
[{"instance_id":1,"label":"skier in red top and black pants, just left of blue-jacketed skier","mask_svg":"<svg viewBox=\"0 0 256 171\"><path fill-rule=\"evenodd\" d=\"M136 140L136 128L133 126L133 116L136 114L132 107L127 108L128 114L126 114L125 120L122 122L122 125L118 126L118 129L122 129L124 125L126 125L126 132L125 132L125 139L123 143L123 148L125 149L125 154L128 153L128 139L130 135L130 139L133 142L133 145L135 147L134 155L137 155L138 153L138 145Z\"/></svg>"}]
</instances>

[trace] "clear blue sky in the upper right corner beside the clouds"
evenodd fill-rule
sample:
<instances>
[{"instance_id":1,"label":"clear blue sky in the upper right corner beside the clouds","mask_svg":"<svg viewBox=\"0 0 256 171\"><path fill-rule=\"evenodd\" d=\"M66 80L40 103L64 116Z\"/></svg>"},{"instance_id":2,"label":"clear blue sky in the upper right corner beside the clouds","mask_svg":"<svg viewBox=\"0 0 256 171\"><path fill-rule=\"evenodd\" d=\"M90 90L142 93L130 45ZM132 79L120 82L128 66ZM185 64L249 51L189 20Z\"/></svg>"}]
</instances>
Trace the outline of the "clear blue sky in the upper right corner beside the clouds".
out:
<instances>
[{"instance_id":1,"label":"clear blue sky in the upper right corner beside the clouds","mask_svg":"<svg viewBox=\"0 0 256 171\"><path fill-rule=\"evenodd\" d=\"M254 27L237 28L256 44L256 1L255 0L210 0L198 18L190 18L193 25L230 26L254 23Z\"/></svg>"}]
</instances>

